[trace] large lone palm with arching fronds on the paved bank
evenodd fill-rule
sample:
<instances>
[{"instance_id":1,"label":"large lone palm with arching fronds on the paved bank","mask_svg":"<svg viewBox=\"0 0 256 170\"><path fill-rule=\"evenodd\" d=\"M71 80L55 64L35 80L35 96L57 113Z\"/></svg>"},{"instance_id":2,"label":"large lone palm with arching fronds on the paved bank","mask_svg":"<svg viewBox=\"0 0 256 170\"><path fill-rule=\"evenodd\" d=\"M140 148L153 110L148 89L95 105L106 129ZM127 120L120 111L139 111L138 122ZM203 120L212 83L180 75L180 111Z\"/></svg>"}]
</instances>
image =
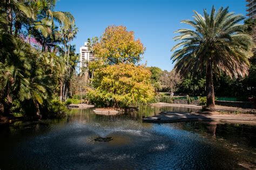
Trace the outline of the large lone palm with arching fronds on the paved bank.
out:
<instances>
[{"instance_id":1,"label":"large lone palm with arching fronds on the paved bank","mask_svg":"<svg viewBox=\"0 0 256 170\"><path fill-rule=\"evenodd\" d=\"M252 56L252 38L243 33L244 25L239 24L244 17L228 12L228 8L220 8L218 12L212 7L209 15L204 16L194 11L194 20L185 20L194 28L180 29L175 40L181 42L172 48L171 59L177 62L175 68L181 74L188 72L205 72L206 97L208 110L215 110L213 72L224 71L231 77L244 77L248 74Z\"/></svg>"}]
</instances>

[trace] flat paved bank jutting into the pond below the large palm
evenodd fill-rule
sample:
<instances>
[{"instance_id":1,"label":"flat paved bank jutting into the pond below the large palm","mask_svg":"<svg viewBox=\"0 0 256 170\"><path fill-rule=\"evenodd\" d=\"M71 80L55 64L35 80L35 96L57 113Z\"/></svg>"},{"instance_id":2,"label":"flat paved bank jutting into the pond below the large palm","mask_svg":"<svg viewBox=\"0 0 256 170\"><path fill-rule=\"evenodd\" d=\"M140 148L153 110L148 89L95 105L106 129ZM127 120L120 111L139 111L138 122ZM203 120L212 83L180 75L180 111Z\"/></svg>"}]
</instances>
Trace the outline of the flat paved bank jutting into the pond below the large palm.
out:
<instances>
[{"instance_id":1,"label":"flat paved bank jutting into the pond below the large palm","mask_svg":"<svg viewBox=\"0 0 256 170\"><path fill-rule=\"evenodd\" d=\"M198 114L161 112L159 115L143 119L147 123L176 123L181 121L217 121L225 123L253 124L256 125L255 114Z\"/></svg>"}]
</instances>

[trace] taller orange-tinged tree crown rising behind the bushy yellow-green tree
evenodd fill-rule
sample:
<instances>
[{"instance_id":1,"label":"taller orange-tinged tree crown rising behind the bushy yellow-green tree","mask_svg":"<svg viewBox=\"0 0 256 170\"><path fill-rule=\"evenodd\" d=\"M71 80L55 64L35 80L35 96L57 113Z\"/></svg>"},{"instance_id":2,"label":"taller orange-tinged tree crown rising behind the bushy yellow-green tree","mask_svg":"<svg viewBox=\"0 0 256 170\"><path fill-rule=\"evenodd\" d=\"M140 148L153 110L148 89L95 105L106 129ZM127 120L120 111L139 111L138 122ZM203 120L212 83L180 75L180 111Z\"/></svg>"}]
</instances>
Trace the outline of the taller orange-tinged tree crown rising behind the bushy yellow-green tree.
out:
<instances>
[{"instance_id":1,"label":"taller orange-tinged tree crown rising behind the bushy yellow-green tree","mask_svg":"<svg viewBox=\"0 0 256 170\"><path fill-rule=\"evenodd\" d=\"M102 58L106 64L132 63L142 59L145 47L134 32L125 26L108 26L100 41L93 46L95 57Z\"/></svg>"}]
</instances>

